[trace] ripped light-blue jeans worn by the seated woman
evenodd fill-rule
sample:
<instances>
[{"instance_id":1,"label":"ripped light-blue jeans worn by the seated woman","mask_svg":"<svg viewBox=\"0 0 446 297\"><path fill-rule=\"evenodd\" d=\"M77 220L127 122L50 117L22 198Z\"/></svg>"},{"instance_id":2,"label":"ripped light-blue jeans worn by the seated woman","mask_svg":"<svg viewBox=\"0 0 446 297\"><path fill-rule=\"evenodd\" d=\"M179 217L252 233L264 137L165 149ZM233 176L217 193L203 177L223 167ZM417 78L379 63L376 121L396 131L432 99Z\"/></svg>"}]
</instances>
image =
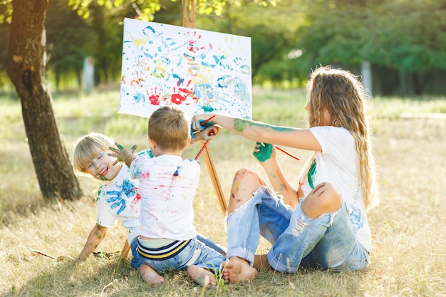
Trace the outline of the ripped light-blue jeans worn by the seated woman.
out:
<instances>
[{"instance_id":1,"label":"ripped light-blue jeans worn by the seated woman","mask_svg":"<svg viewBox=\"0 0 446 297\"><path fill-rule=\"evenodd\" d=\"M269 265L276 271L295 273L299 267L355 271L365 269L369 253L356 241L346 204L317 219L306 217L302 202L293 211L266 187L227 217L227 258L238 256L252 266L259 235L272 246Z\"/></svg>"}]
</instances>

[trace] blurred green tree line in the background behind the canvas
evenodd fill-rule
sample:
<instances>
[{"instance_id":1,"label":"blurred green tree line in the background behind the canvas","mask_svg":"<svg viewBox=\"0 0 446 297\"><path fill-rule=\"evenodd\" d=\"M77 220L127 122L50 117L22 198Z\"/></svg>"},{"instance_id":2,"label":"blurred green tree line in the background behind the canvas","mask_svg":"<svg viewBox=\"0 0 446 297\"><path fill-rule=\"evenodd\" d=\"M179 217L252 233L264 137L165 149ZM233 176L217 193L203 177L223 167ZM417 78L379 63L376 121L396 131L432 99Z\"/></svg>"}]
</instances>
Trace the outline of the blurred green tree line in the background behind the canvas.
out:
<instances>
[{"instance_id":1,"label":"blurred green tree line in the background behind the canvas","mask_svg":"<svg viewBox=\"0 0 446 297\"><path fill-rule=\"evenodd\" d=\"M119 81L122 21L136 16L134 2L111 9L92 2L87 19L67 4L50 1L46 11L48 78L56 89L81 88L83 58L93 56L96 84ZM159 5L153 21L181 26L181 1ZM197 28L251 37L254 84L299 87L318 64L361 74L368 61L373 95L446 93L446 0L232 1L218 15L200 12ZM0 34L6 85L7 22Z\"/></svg>"}]
</instances>

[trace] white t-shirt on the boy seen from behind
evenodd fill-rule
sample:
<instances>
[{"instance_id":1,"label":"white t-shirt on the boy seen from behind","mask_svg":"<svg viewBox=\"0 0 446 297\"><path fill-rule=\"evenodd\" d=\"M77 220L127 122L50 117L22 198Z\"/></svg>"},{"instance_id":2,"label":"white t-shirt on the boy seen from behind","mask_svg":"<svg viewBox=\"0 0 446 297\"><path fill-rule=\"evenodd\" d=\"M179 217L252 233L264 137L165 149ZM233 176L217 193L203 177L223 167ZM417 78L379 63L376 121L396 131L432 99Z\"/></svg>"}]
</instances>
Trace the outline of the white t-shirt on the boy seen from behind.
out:
<instances>
[{"instance_id":1,"label":"white t-shirt on the boy seen from behind","mask_svg":"<svg viewBox=\"0 0 446 297\"><path fill-rule=\"evenodd\" d=\"M174 240L196 236L192 207L200 173L196 160L176 155L138 157L130 173L140 181L140 235Z\"/></svg>"}]
</instances>

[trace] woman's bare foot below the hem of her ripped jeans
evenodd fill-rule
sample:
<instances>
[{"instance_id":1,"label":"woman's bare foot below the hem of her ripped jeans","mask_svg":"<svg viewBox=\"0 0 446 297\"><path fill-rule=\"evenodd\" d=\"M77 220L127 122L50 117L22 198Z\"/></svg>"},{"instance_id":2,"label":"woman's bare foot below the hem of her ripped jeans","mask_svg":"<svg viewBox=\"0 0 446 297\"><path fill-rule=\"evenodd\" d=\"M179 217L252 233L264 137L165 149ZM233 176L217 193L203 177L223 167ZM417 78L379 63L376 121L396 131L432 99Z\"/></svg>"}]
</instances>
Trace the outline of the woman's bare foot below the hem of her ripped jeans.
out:
<instances>
[{"instance_id":1,"label":"woman's bare foot below the hem of her ripped jeans","mask_svg":"<svg viewBox=\"0 0 446 297\"><path fill-rule=\"evenodd\" d=\"M256 269L239 257L231 257L223 262L223 278L229 283L252 281L257 276Z\"/></svg>"}]
</instances>

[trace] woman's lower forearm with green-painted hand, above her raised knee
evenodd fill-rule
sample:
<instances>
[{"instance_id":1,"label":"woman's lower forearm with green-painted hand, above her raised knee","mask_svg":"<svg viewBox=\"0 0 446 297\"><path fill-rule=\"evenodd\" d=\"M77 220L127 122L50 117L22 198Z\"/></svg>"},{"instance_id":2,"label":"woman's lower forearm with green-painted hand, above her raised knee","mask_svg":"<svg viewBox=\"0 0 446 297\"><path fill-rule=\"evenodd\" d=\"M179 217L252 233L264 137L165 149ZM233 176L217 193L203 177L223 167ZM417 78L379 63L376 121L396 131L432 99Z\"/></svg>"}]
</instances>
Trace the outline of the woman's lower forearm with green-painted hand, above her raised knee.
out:
<instances>
[{"instance_id":1,"label":"woman's lower forearm with green-painted hand, above her raised knee","mask_svg":"<svg viewBox=\"0 0 446 297\"><path fill-rule=\"evenodd\" d=\"M274 191L284 197L284 203L294 209L299 203L296 188L286 179L279 162L277 162L276 149L269 143L256 142L253 154L264 168Z\"/></svg>"}]
</instances>

